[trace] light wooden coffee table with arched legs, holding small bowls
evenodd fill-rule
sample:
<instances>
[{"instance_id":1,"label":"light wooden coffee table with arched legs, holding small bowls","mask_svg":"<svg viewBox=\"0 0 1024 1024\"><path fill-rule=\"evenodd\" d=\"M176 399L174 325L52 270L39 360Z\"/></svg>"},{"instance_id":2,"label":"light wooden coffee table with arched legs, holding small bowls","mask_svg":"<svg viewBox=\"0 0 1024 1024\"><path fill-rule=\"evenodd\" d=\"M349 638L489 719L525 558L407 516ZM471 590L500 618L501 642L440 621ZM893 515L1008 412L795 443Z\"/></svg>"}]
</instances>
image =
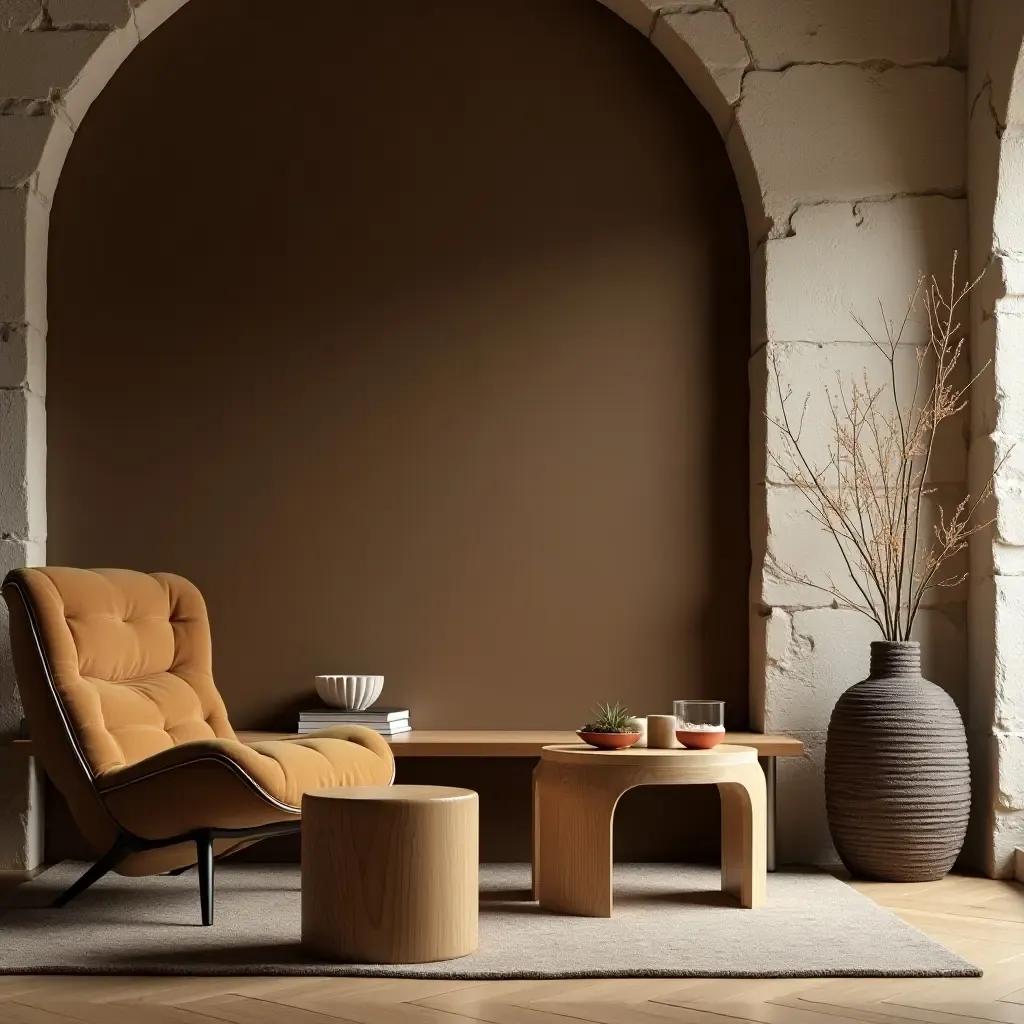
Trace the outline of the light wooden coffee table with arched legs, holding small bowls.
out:
<instances>
[{"instance_id":1,"label":"light wooden coffee table with arched legs, holding small bowls","mask_svg":"<svg viewBox=\"0 0 1024 1024\"><path fill-rule=\"evenodd\" d=\"M715 784L722 798L722 890L765 900L765 776L753 746L597 751L545 746L534 772L534 898L547 910L611 916L611 823L637 785Z\"/></svg>"}]
</instances>

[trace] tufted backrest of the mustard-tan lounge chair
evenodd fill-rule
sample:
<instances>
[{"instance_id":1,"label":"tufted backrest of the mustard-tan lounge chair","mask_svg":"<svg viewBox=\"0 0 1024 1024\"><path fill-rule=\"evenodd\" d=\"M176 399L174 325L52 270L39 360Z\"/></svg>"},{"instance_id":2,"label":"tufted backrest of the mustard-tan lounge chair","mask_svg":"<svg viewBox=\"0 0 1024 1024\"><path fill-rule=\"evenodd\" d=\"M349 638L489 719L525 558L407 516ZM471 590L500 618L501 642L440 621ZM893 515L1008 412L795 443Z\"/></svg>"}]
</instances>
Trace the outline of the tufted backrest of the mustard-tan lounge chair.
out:
<instances>
[{"instance_id":1,"label":"tufted backrest of the mustard-tan lounge chair","mask_svg":"<svg viewBox=\"0 0 1024 1024\"><path fill-rule=\"evenodd\" d=\"M187 740L236 738L213 683L206 604L187 580L30 568L8 574L8 604L14 591L44 663L42 673L23 671L28 638L14 644L23 703L47 770L46 748L57 741L59 724L93 776Z\"/></svg>"}]
</instances>

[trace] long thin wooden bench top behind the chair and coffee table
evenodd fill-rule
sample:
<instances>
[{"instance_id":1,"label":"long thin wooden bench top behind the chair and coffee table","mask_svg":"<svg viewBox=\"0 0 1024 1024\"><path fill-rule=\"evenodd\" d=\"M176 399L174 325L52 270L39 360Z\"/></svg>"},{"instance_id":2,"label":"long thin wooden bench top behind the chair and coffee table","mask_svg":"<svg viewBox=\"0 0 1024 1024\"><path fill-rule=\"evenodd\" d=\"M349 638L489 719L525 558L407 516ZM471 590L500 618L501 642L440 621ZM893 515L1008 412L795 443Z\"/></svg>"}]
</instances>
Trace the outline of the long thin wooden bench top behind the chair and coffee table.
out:
<instances>
[{"instance_id":1,"label":"long thin wooden bench top behind the chair and coffee table","mask_svg":"<svg viewBox=\"0 0 1024 1024\"><path fill-rule=\"evenodd\" d=\"M261 739L293 739L294 732L240 731L244 743ZM414 729L388 737L396 758L539 758L545 746L578 743L580 737L568 730L526 729ZM759 732L727 732L725 742L753 746L761 757L797 758L804 744L793 736ZM14 749L32 754L31 739L14 740Z\"/></svg>"}]
</instances>

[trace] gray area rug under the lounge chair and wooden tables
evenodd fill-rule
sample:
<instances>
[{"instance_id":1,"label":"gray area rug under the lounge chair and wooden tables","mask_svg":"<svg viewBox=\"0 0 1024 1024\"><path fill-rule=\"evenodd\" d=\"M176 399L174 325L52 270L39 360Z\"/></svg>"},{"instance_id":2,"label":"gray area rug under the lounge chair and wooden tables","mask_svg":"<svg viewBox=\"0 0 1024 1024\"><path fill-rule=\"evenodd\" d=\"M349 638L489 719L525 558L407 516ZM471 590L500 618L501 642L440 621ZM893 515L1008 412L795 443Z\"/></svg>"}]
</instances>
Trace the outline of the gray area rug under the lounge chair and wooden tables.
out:
<instances>
[{"instance_id":1,"label":"gray area rug under the lounge chair and wooden tables","mask_svg":"<svg viewBox=\"0 0 1024 1024\"><path fill-rule=\"evenodd\" d=\"M826 873L768 877L768 903L740 909L717 868L615 865L608 919L547 913L529 868L481 866L480 942L470 956L408 967L319 963L299 947L299 869L218 864L214 925L199 923L194 871L108 876L47 906L84 868L62 863L8 891L0 973L347 975L499 978L965 977L981 972Z\"/></svg>"}]
</instances>

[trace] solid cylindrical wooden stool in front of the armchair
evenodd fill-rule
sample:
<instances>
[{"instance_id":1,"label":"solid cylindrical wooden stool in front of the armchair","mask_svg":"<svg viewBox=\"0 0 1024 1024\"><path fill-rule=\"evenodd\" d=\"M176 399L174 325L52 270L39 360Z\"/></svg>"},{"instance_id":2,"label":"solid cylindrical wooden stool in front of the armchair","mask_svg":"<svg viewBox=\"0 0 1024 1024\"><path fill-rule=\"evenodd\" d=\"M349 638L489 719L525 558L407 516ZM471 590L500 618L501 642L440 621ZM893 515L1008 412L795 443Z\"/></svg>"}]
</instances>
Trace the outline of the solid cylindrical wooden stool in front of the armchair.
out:
<instances>
[{"instance_id":1,"label":"solid cylindrical wooden stool in front of the armchair","mask_svg":"<svg viewBox=\"0 0 1024 1024\"><path fill-rule=\"evenodd\" d=\"M479 801L442 785L302 798L302 948L344 964L427 964L476 949Z\"/></svg>"}]
</instances>

